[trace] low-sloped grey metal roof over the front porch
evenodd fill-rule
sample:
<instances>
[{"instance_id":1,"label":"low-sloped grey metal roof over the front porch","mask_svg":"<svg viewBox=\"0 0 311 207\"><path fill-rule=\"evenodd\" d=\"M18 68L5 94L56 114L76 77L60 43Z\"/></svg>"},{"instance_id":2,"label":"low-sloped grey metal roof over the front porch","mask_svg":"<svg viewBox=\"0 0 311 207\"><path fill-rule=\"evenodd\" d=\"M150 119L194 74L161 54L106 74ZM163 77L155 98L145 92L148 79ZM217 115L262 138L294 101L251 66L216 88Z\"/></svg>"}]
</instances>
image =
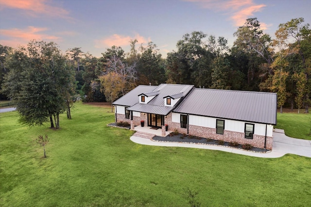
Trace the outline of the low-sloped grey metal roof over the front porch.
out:
<instances>
[{"instance_id":1,"label":"low-sloped grey metal roof over the front porch","mask_svg":"<svg viewBox=\"0 0 311 207\"><path fill-rule=\"evenodd\" d=\"M173 107L164 105L135 104L127 108L127 110L150 114L168 115L173 110Z\"/></svg>"}]
</instances>

